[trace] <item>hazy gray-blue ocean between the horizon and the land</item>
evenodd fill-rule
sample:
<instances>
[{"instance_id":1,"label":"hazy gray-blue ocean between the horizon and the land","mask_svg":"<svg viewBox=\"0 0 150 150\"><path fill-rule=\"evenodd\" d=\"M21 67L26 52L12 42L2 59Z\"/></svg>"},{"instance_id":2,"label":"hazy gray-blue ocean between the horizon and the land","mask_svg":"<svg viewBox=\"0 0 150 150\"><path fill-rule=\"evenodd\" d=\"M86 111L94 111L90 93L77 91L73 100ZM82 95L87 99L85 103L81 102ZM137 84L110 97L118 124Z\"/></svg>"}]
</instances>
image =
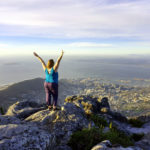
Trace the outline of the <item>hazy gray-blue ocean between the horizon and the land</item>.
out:
<instances>
[{"instance_id":1,"label":"hazy gray-blue ocean between the horizon and the land","mask_svg":"<svg viewBox=\"0 0 150 150\"><path fill-rule=\"evenodd\" d=\"M56 56L42 56L45 62ZM34 56L0 57L0 86L19 81L44 78L42 65ZM59 67L59 78L102 78L105 80L150 79L147 56L65 56Z\"/></svg>"}]
</instances>

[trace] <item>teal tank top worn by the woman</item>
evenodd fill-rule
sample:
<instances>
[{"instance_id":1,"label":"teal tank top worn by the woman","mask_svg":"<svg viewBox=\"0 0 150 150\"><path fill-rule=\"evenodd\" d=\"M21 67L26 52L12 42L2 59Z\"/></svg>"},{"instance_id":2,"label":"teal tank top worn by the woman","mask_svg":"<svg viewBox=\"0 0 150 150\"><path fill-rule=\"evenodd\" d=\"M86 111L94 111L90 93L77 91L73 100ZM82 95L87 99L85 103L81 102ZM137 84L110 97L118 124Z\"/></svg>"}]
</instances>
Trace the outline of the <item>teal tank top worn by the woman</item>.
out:
<instances>
[{"instance_id":1,"label":"teal tank top worn by the woman","mask_svg":"<svg viewBox=\"0 0 150 150\"><path fill-rule=\"evenodd\" d=\"M50 73L46 68L45 74L46 74L46 79L45 79L46 82L58 83L58 72L55 72L53 68L51 69Z\"/></svg>"}]
</instances>

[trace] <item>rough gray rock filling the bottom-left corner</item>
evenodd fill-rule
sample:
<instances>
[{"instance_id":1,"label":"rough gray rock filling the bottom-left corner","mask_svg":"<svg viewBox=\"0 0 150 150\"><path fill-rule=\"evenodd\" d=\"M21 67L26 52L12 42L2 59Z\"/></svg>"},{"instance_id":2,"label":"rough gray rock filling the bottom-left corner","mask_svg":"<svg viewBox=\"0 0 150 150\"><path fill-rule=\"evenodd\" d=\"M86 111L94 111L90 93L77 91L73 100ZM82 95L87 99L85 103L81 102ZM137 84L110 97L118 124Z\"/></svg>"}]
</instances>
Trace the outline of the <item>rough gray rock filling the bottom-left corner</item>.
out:
<instances>
[{"instance_id":1,"label":"rough gray rock filling the bottom-left corner","mask_svg":"<svg viewBox=\"0 0 150 150\"><path fill-rule=\"evenodd\" d=\"M0 126L0 149L1 150L44 150L54 147L56 141L46 131L33 124L29 125L1 125Z\"/></svg>"}]
</instances>

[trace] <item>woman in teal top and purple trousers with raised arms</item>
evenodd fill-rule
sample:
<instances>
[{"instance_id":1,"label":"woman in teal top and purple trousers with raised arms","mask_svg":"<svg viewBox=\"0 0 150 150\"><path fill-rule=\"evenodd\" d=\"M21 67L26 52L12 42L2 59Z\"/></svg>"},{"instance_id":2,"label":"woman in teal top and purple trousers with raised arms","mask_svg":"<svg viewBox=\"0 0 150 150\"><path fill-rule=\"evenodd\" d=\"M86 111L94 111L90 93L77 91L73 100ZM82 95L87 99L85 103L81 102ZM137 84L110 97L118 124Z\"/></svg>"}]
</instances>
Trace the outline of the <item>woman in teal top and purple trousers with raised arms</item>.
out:
<instances>
[{"instance_id":1,"label":"woman in teal top and purple trousers with raised arms","mask_svg":"<svg viewBox=\"0 0 150 150\"><path fill-rule=\"evenodd\" d=\"M34 52L33 54L40 60L40 62L42 63L42 67L45 71L46 78L44 82L44 88L48 108L49 110L52 110L52 108L53 110L56 110L58 99L58 68L64 52L62 50L61 55L57 59L55 64L53 59L49 59L47 65L37 53ZM53 97L53 103L51 103L51 96Z\"/></svg>"}]
</instances>

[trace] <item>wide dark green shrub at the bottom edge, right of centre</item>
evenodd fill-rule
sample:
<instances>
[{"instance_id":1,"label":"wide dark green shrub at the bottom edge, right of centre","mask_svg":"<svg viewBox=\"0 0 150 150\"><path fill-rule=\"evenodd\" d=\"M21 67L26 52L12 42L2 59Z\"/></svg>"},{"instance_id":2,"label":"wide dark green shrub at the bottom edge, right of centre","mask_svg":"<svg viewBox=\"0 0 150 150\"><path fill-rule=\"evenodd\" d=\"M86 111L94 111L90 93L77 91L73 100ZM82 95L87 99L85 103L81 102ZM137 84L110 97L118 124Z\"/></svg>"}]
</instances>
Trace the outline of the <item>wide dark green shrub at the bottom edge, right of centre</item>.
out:
<instances>
[{"instance_id":1,"label":"wide dark green shrub at the bottom edge, right of centre","mask_svg":"<svg viewBox=\"0 0 150 150\"><path fill-rule=\"evenodd\" d=\"M103 140L109 140L112 144L120 144L124 147L133 145L131 137L112 128L103 133L100 128L83 129L76 131L70 138L68 145L73 150L90 150Z\"/></svg>"}]
</instances>

